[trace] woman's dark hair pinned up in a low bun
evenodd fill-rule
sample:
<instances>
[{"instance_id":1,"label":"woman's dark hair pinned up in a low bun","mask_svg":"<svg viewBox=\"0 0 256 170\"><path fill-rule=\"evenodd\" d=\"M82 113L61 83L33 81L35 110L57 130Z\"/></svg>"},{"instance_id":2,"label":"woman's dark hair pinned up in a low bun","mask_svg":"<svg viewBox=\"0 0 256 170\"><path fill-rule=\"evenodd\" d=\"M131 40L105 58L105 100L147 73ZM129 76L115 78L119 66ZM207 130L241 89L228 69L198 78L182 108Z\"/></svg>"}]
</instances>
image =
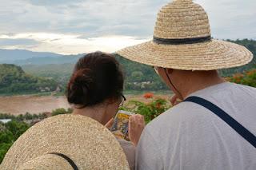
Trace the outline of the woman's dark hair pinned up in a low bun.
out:
<instances>
[{"instance_id":1,"label":"woman's dark hair pinned up in a low bun","mask_svg":"<svg viewBox=\"0 0 256 170\"><path fill-rule=\"evenodd\" d=\"M66 90L70 104L81 108L93 106L110 97L122 95L123 74L118 61L110 53L88 53L74 66Z\"/></svg>"}]
</instances>

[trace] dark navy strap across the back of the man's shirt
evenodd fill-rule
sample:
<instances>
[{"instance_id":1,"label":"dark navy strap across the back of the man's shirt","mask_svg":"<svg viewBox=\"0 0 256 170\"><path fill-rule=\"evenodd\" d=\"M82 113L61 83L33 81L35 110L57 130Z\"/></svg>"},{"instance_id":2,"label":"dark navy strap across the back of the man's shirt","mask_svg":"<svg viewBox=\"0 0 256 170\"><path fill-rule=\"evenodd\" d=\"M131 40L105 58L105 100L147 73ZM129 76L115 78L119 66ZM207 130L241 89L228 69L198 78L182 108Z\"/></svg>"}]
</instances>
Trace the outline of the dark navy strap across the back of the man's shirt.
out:
<instances>
[{"instance_id":1,"label":"dark navy strap across the back of the man's shirt","mask_svg":"<svg viewBox=\"0 0 256 170\"><path fill-rule=\"evenodd\" d=\"M214 105L210 101L206 101L201 97L188 97L185 101L194 102L198 105L202 105L206 109L209 109L212 113L225 121L226 124L230 125L231 128L234 128L239 135L241 135L245 140L252 144L254 148L256 148L256 136L239 124L238 121L235 121L234 118L230 117L230 115L228 115L224 110L220 109L217 105Z\"/></svg>"}]
</instances>

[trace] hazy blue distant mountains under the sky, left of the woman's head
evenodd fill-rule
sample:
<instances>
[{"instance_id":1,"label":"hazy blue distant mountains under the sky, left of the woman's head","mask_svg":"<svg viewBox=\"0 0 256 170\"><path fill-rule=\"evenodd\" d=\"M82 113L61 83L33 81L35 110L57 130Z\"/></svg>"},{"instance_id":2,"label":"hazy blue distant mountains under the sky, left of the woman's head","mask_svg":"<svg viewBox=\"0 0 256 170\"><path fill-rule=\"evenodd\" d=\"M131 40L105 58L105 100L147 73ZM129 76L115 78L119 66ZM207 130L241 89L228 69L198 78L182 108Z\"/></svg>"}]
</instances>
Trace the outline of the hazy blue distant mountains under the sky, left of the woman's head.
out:
<instances>
[{"instance_id":1,"label":"hazy blue distant mountains under the sky, left of the woman's head","mask_svg":"<svg viewBox=\"0 0 256 170\"><path fill-rule=\"evenodd\" d=\"M0 49L0 64L49 65L75 63L82 54L62 55L58 53L32 52L23 49Z\"/></svg>"}]
</instances>

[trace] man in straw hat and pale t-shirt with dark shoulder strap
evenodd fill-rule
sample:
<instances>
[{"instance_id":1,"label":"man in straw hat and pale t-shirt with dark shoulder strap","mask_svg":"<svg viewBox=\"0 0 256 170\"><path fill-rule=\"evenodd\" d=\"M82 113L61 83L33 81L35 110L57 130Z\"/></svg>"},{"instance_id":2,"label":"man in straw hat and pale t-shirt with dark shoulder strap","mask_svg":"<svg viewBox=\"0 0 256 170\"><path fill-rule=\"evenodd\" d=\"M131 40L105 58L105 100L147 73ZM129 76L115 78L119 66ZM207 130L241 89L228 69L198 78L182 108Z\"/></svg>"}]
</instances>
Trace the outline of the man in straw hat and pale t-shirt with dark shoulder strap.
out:
<instances>
[{"instance_id":1,"label":"man in straw hat and pale t-shirt with dark shoulder strap","mask_svg":"<svg viewBox=\"0 0 256 170\"><path fill-rule=\"evenodd\" d=\"M175 93L172 103L183 101L146 125L141 136L142 130L130 131L131 140L140 136L136 169L256 169L256 89L226 82L217 72L246 65L253 54L212 39L201 6L191 0L167 4L153 40L118 54L154 66ZM131 117L130 128L142 127L138 122L141 117Z\"/></svg>"}]
</instances>

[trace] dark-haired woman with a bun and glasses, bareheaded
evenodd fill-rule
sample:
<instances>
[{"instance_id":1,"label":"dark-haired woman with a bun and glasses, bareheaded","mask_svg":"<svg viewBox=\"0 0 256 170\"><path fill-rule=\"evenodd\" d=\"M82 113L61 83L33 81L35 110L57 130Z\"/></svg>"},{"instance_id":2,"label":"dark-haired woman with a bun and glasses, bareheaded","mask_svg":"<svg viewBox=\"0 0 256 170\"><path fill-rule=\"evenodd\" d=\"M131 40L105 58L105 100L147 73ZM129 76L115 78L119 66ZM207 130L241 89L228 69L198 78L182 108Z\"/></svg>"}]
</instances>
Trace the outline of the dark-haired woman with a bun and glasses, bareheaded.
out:
<instances>
[{"instance_id":1,"label":"dark-haired woman with a bun and glasses, bareheaded","mask_svg":"<svg viewBox=\"0 0 256 170\"><path fill-rule=\"evenodd\" d=\"M73 114L90 117L106 125L125 101L122 90L123 74L118 61L109 53L95 52L81 57L74 66L66 97L74 107ZM134 144L118 141L126 153L130 169L134 169L134 144L138 141L133 141Z\"/></svg>"}]
</instances>

